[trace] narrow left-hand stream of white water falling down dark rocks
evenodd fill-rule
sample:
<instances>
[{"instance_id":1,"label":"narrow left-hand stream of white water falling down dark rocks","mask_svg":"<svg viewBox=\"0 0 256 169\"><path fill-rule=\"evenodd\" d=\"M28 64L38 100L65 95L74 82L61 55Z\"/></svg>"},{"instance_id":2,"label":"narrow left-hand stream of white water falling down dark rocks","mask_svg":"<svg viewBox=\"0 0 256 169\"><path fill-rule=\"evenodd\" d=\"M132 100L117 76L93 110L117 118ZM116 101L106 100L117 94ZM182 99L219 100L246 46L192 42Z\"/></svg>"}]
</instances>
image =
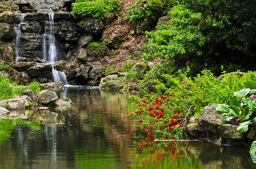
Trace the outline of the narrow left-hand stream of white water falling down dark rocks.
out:
<instances>
[{"instance_id":1,"label":"narrow left-hand stream of white water falling down dark rocks","mask_svg":"<svg viewBox=\"0 0 256 169\"><path fill-rule=\"evenodd\" d=\"M22 56L22 41L20 40L20 37L22 35L22 30L20 26L25 23L25 14L20 14L20 23L18 25L18 28L16 30L16 59L15 61L19 61L20 56Z\"/></svg>"}]
</instances>

